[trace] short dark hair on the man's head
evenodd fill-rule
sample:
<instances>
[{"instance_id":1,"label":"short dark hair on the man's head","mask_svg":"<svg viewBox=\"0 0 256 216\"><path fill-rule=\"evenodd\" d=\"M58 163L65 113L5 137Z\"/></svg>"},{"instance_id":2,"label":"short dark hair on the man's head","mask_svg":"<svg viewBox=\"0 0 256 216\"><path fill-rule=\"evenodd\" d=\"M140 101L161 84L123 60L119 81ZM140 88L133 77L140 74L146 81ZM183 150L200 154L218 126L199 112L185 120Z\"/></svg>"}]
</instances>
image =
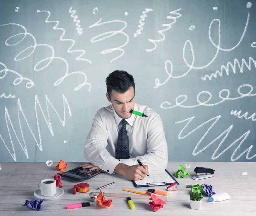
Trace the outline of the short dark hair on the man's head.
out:
<instances>
[{"instance_id":1,"label":"short dark hair on the man's head","mask_svg":"<svg viewBox=\"0 0 256 216\"><path fill-rule=\"evenodd\" d=\"M106 78L107 93L111 97L112 90L124 93L132 86L135 91L133 76L123 70L115 70Z\"/></svg>"}]
</instances>

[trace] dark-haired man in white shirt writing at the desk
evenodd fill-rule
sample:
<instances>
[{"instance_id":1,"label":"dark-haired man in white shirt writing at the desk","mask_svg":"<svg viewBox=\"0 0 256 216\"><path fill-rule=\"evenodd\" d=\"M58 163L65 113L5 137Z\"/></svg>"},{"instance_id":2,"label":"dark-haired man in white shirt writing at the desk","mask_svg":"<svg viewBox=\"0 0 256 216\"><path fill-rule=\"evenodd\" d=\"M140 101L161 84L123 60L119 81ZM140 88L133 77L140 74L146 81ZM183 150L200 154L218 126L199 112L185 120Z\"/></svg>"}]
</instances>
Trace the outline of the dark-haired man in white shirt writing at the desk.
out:
<instances>
[{"instance_id":1,"label":"dark-haired man in white shirt writing at the desk","mask_svg":"<svg viewBox=\"0 0 256 216\"><path fill-rule=\"evenodd\" d=\"M95 115L84 146L85 158L90 163L81 167L120 174L134 181L144 179L148 170L164 170L168 151L160 116L147 106L135 103L134 79L126 71L110 73L106 84L106 97L111 104ZM148 117L132 114L131 109ZM124 127L129 139L128 157L118 159L116 148L123 119L127 122ZM144 167L136 159L140 159Z\"/></svg>"}]
</instances>

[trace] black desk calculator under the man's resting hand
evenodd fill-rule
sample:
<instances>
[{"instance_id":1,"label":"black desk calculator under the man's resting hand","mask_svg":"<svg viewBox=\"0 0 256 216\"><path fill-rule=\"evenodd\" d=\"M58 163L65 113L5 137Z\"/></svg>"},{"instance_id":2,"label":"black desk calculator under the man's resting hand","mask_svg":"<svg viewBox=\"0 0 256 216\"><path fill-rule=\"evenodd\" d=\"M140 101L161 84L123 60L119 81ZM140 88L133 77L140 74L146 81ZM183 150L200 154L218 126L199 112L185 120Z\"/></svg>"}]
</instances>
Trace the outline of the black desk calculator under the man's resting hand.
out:
<instances>
[{"instance_id":1,"label":"black desk calculator under the man's resting hand","mask_svg":"<svg viewBox=\"0 0 256 216\"><path fill-rule=\"evenodd\" d=\"M100 170L91 170L89 169L83 169L82 167L76 167L72 170L66 171L66 172L60 172L57 173L60 176L67 177L69 179L77 180L77 181L84 181L87 179L90 179L93 176L98 175L101 173Z\"/></svg>"}]
</instances>

